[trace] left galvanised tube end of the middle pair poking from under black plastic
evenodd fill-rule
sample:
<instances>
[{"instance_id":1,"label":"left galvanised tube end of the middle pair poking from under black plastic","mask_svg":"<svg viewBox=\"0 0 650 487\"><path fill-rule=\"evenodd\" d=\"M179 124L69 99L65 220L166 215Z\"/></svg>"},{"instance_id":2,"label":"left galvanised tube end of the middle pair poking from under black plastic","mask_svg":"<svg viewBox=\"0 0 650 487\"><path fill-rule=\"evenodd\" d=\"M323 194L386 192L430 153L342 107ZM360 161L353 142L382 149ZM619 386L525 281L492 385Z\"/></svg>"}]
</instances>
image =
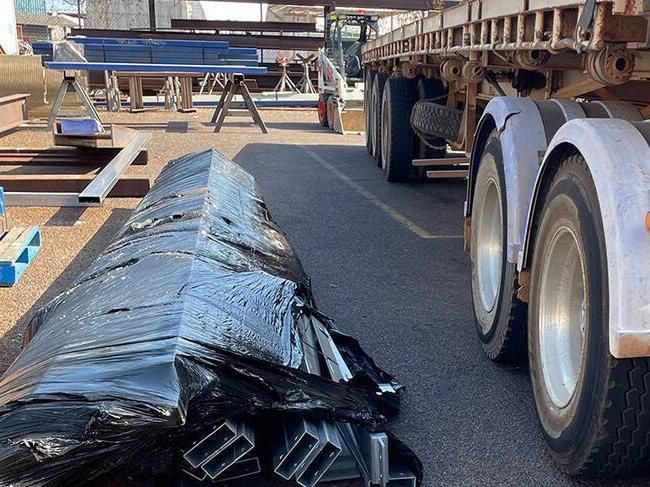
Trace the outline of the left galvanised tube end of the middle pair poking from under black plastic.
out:
<instances>
[{"instance_id":1,"label":"left galvanised tube end of the middle pair poking from under black plastic","mask_svg":"<svg viewBox=\"0 0 650 487\"><path fill-rule=\"evenodd\" d=\"M320 430L318 422L308 418L287 419L279 429L274 438L273 469L280 477L289 480L315 454Z\"/></svg>"}]
</instances>

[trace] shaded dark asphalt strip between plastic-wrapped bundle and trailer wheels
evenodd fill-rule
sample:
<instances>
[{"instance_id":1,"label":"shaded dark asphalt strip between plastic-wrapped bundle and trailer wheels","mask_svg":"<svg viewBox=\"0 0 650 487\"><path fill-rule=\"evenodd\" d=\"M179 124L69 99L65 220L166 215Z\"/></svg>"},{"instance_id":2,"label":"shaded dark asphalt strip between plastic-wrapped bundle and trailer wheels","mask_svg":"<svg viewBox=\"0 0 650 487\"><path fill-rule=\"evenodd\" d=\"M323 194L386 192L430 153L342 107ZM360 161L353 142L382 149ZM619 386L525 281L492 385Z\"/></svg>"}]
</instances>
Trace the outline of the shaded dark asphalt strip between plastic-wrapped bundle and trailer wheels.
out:
<instances>
[{"instance_id":1,"label":"shaded dark asphalt strip between plastic-wrapped bundle and trailer wheels","mask_svg":"<svg viewBox=\"0 0 650 487\"><path fill-rule=\"evenodd\" d=\"M389 184L361 144L249 144L234 160L257 177L321 311L406 386L391 429L422 460L423 485L648 485L557 469L528 371L495 365L476 337L465 183Z\"/></svg>"}]
</instances>

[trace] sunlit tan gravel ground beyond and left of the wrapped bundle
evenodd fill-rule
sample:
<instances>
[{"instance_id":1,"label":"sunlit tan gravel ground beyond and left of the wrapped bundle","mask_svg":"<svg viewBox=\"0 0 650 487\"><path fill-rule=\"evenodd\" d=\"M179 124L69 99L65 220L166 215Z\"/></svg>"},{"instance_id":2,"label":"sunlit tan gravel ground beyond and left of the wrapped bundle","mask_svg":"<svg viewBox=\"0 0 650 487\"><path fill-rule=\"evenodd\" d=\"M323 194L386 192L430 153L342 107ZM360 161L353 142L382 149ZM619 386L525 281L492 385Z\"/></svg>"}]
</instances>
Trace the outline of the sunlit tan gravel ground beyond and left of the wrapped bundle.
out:
<instances>
[{"instance_id":1,"label":"sunlit tan gravel ground beyond and left of the wrapped bundle","mask_svg":"<svg viewBox=\"0 0 650 487\"><path fill-rule=\"evenodd\" d=\"M102 113L102 117L105 123L129 124L152 133L149 164L132 166L127 173L146 174L152 183L168 161L189 152L218 148L232 158L249 143L269 139L294 143L297 139L294 129L305 122L308 122L303 130L306 134L332 142L337 139L336 135L323 134L319 130L313 110L262 110L270 130L267 136L244 117L230 117L222 132L214 134L213 127L204 123L209 121L211 113L202 109L192 114L150 111ZM311 126L316 132L310 130ZM0 147L47 147L51 143L49 132L43 129L24 129L0 138ZM273 157L272 154L269 157ZM11 170L11 167L0 167L0 172ZM0 371L4 371L20 351L23 330L35 312L70 287L74 278L110 242L138 201L110 198L97 208L10 209L14 225L41 228L43 246L18 285L0 288Z\"/></svg>"}]
</instances>

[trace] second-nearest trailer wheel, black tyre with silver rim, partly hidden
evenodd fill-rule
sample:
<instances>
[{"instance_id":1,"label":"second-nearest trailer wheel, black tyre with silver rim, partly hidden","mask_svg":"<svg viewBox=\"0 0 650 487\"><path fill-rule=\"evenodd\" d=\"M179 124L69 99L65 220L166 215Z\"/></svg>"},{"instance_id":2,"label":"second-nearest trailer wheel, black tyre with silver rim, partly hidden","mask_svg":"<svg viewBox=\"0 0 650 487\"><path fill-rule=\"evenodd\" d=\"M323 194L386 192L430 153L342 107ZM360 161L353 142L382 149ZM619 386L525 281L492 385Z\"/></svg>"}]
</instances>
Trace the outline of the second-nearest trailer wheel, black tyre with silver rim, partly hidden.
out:
<instances>
[{"instance_id":1,"label":"second-nearest trailer wheel, black tyre with silver rim, partly hidden","mask_svg":"<svg viewBox=\"0 0 650 487\"><path fill-rule=\"evenodd\" d=\"M472 203L472 304L487 356L519 363L526 357L526 304L517 298L517 268L507 259L507 215L503 153L495 131L480 159Z\"/></svg>"}]
</instances>

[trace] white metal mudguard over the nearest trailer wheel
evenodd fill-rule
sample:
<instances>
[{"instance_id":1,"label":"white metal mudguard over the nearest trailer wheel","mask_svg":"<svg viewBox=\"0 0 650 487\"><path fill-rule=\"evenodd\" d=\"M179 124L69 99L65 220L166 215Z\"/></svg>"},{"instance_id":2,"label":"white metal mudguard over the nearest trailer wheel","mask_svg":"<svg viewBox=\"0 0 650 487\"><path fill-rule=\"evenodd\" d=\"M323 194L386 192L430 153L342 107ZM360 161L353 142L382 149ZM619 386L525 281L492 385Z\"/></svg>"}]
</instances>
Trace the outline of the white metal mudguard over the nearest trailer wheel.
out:
<instances>
[{"instance_id":1,"label":"white metal mudguard over the nearest trailer wheel","mask_svg":"<svg viewBox=\"0 0 650 487\"><path fill-rule=\"evenodd\" d=\"M559 129L535 181L518 269L529 267L543 188L571 151L584 157L598 195L607 253L610 353L616 358L648 357L650 231L644 220L650 211L650 146L634 124L576 119Z\"/></svg>"}]
</instances>

